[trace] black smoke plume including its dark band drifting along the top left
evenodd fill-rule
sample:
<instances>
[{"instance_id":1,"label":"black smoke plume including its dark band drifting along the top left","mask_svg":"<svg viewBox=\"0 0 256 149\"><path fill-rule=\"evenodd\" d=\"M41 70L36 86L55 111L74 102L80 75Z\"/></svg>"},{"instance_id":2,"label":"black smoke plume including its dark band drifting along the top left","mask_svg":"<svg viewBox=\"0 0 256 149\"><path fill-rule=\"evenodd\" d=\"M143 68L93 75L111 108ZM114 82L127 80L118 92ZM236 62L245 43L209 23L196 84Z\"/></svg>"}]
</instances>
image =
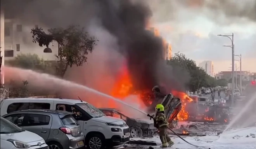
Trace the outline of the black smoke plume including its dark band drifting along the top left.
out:
<instances>
[{"instance_id":1,"label":"black smoke plume including its dark band drifting along the top left","mask_svg":"<svg viewBox=\"0 0 256 149\"><path fill-rule=\"evenodd\" d=\"M1 0L1 7L5 9L6 17L27 24L40 22L47 27L70 24L88 27L92 19L98 19L101 26L117 38L117 51L126 59L135 90L152 89L171 75L163 67L162 39L145 29L152 15L145 1ZM168 81L174 79L177 80L169 77Z\"/></svg>"}]
</instances>

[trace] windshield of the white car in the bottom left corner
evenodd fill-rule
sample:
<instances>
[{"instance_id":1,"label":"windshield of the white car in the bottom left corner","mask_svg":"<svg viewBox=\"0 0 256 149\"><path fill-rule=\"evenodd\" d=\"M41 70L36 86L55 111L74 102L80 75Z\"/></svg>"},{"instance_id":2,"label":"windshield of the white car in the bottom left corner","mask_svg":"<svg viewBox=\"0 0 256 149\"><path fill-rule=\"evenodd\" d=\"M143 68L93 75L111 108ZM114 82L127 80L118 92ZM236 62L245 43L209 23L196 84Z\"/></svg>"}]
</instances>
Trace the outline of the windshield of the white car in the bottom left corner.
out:
<instances>
[{"instance_id":1,"label":"windshield of the white car in the bottom left corner","mask_svg":"<svg viewBox=\"0 0 256 149\"><path fill-rule=\"evenodd\" d=\"M23 132L21 128L17 127L13 123L1 117L0 122L0 134L13 134L17 132Z\"/></svg>"}]
</instances>

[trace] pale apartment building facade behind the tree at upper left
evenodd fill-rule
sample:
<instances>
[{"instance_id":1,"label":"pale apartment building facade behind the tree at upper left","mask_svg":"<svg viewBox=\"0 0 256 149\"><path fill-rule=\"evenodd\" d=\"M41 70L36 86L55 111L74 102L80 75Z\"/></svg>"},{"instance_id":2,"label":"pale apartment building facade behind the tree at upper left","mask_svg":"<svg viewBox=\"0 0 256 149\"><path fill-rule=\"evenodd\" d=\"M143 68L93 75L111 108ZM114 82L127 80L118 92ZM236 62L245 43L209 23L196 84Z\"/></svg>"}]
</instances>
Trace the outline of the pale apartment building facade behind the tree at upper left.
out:
<instances>
[{"instance_id":1,"label":"pale apartment building facade behind the tree at upper left","mask_svg":"<svg viewBox=\"0 0 256 149\"><path fill-rule=\"evenodd\" d=\"M57 43L49 45L49 48L52 49L52 53L43 53L43 50L46 47L40 47L38 43L33 43L31 29L35 28L35 26L36 24L31 26L22 24L18 20L5 19L5 31L9 30L10 33L8 35L5 33L5 50L13 50L13 57L5 56L5 60L11 60L21 53L37 54L44 60L56 60L55 54L58 53ZM43 29L45 32L47 32L47 28L43 27Z\"/></svg>"}]
</instances>

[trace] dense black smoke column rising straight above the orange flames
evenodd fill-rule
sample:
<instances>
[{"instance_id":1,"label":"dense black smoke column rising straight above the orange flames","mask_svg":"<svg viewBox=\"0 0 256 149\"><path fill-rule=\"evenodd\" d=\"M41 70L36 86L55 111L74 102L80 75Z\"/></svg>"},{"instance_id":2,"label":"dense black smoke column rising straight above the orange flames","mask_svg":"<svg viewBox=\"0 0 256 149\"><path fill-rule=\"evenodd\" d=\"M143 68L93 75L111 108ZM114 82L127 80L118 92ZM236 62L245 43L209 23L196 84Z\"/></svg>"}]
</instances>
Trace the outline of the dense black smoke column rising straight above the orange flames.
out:
<instances>
[{"instance_id":1,"label":"dense black smoke column rising straight above the orange flames","mask_svg":"<svg viewBox=\"0 0 256 149\"><path fill-rule=\"evenodd\" d=\"M152 12L145 3L116 2L99 0L102 25L118 38L135 89L151 89L158 83L156 70L163 53L161 38L145 29Z\"/></svg>"}]
</instances>

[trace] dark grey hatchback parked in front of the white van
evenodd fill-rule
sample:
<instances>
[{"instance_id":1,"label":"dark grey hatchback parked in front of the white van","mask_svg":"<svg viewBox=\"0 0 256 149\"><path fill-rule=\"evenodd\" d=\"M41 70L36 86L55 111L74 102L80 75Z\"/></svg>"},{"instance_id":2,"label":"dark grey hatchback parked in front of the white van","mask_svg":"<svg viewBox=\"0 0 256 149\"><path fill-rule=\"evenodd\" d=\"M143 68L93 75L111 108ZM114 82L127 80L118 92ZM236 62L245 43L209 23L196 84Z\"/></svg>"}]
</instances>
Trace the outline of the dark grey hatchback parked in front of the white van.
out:
<instances>
[{"instance_id":1,"label":"dark grey hatchback parked in front of the white van","mask_svg":"<svg viewBox=\"0 0 256 149\"><path fill-rule=\"evenodd\" d=\"M22 110L3 115L3 118L40 135L50 149L84 148L85 135L73 115L67 111Z\"/></svg>"}]
</instances>

